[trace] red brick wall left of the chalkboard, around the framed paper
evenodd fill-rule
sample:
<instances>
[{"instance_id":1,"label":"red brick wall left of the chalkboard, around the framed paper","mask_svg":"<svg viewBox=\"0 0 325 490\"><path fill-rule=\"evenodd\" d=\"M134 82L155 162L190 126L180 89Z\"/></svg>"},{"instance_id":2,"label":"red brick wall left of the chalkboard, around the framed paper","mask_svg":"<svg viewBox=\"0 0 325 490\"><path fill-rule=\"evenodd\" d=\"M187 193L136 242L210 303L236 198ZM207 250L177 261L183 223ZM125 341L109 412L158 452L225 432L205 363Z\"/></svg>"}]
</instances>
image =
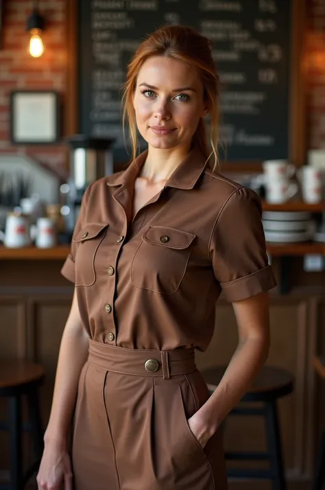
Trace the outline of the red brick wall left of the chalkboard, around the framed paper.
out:
<instances>
[{"instance_id":1,"label":"red brick wall left of the chalkboard, around the framed paper","mask_svg":"<svg viewBox=\"0 0 325 490\"><path fill-rule=\"evenodd\" d=\"M2 49L0 49L0 154L26 152L52 168L64 166L63 145L13 146L9 140L9 94L15 89L48 89L62 93L67 79L66 0L42 0L40 13L45 16L43 32L45 52L32 58L27 51L29 33L27 17L30 0L3 2Z\"/></svg>"}]
</instances>

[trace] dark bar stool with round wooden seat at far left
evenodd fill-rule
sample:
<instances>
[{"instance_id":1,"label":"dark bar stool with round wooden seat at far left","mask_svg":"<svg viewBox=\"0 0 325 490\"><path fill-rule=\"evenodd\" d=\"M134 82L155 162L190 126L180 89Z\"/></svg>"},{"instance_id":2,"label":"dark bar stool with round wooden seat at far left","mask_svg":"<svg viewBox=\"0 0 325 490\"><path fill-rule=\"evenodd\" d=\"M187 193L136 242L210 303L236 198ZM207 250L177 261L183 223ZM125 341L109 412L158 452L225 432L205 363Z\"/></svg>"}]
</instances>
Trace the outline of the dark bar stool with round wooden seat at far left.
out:
<instances>
[{"instance_id":1,"label":"dark bar stool with round wooden seat at far left","mask_svg":"<svg viewBox=\"0 0 325 490\"><path fill-rule=\"evenodd\" d=\"M0 397L8 399L8 421L0 421L0 430L9 432L10 482L1 484L0 490L22 490L38 469L43 454L43 429L40 420L38 388L43 382L43 367L26 360L0 360ZM21 401L27 399L29 422L22 424ZM32 435L36 461L23 474L23 430Z\"/></svg>"}]
</instances>

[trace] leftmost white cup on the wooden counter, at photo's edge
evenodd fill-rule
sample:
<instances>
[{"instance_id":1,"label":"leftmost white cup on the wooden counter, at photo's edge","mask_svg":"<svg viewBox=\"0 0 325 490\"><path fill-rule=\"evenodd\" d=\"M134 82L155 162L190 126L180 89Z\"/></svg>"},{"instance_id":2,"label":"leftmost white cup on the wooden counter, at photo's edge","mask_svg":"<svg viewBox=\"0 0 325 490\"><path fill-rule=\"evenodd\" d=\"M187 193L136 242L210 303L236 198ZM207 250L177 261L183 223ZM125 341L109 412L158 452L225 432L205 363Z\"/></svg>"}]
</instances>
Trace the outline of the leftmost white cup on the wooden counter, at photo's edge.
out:
<instances>
[{"instance_id":1,"label":"leftmost white cup on the wooden counter, at photo's edge","mask_svg":"<svg viewBox=\"0 0 325 490\"><path fill-rule=\"evenodd\" d=\"M8 248L19 248L32 245L29 232L29 216L8 213L5 220L5 231L0 231L0 240Z\"/></svg>"}]
</instances>

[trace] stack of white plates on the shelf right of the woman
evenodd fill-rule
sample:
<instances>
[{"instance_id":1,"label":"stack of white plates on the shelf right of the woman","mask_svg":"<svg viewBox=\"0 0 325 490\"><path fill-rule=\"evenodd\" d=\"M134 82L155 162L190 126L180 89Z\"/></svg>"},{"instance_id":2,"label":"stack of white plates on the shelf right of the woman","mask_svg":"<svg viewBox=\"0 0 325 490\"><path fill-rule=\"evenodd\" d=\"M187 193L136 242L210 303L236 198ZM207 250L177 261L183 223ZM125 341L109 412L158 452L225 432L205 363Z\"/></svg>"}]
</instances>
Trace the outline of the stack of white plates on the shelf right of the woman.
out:
<instances>
[{"instance_id":1,"label":"stack of white plates on the shelf right of the woman","mask_svg":"<svg viewBox=\"0 0 325 490\"><path fill-rule=\"evenodd\" d=\"M306 242L315 233L315 223L307 211L263 211L267 242Z\"/></svg>"}]
</instances>

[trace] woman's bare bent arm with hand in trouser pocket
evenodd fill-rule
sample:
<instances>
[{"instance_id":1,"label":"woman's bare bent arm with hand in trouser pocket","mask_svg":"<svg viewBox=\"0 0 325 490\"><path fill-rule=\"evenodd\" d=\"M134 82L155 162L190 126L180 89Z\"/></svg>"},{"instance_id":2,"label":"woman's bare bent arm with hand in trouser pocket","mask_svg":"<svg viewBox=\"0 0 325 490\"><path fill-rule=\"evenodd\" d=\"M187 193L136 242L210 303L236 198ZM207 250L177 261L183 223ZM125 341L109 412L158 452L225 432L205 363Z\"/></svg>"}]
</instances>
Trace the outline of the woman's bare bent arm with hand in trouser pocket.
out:
<instances>
[{"instance_id":1,"label":"woman's bare bent arm with hand in trouser pocket","mask_svg":"<svg viewBox=\"0 0 325 490\"><path fill-rule=\"evenodd\" d=\"M213 395L189 419L189 426L202 447L248 390L269 351L268 292L234 301L232 306L239 334L237 349Z\"/></svg>"}]
</instances>

